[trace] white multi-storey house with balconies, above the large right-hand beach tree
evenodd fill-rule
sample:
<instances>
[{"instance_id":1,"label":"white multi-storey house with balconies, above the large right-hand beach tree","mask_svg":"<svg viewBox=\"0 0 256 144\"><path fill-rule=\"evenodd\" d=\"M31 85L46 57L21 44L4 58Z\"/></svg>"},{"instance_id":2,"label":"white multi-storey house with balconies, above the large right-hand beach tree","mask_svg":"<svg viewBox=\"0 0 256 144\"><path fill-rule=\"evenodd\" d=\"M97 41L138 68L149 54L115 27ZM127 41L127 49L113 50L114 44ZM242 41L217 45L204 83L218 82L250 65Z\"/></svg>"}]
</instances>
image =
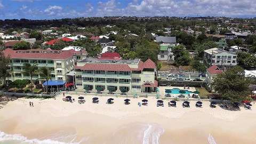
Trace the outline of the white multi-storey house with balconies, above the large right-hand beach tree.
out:
<instances>
[{"instance_id":1,"label":"white multi-storey house with balconies, above the large right-hand beach tree","mask_svg":"<svg viewBox=\"0 0 256 144\"><path fill-rule=\"evenodd\" d=\"M204 63L207 67L213 65L220 69L226 69L237 65L237 54L234 52L225 51L218 48L212 48L204 51Z\"/></svg>"}]
</instances>

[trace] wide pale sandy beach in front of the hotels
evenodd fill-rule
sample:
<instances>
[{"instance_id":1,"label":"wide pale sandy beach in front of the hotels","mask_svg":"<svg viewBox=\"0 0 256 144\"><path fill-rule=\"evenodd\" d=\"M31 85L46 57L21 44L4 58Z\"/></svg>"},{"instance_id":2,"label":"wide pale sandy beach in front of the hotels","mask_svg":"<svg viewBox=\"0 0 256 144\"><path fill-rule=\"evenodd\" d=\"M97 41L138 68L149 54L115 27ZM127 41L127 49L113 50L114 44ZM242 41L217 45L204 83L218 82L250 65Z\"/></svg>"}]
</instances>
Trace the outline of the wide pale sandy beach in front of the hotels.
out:
<instances>
[{"instance_id":1,"label":"wide pale sandy beach in front of the hotels","mask_svg":"<svg viewBox=\"0 0 256 144\"><path fill-rule=\"evenodd\" d=\"M148 106L138 106L145 98L130 98L124 105L122 97L106 104L109 97L85 96L79 104L55 99L25 99L10 101L0 109L0 143L208 143L209 134L216 143L255 143L256 106L239 111L196 108L156 107L155 98L146 98ZM34 102L34 107L29 106Z\"/></svg>"}]
</instances>

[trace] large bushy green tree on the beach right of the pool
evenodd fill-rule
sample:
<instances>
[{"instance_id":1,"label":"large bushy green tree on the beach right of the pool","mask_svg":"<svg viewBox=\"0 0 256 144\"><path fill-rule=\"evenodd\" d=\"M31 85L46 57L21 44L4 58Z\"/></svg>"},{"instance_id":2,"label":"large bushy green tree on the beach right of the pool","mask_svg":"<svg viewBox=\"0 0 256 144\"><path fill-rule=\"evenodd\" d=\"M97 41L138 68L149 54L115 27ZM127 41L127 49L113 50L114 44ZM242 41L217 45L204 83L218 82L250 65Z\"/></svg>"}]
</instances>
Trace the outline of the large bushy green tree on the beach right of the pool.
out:
<instances>
[{"instance_id":1,"label":"large bushy green tree on the beach right of the pool","mask_svg":"<svg viewBox=\"0 0 256 144\"><path fill-rule=\"evenodd\" d=\"M241 102L250 94L248 89L250 83L250 79L244 76L244 69L236 66L218 74L211 86L222 99Z\"/></svg>"}]
</instances>

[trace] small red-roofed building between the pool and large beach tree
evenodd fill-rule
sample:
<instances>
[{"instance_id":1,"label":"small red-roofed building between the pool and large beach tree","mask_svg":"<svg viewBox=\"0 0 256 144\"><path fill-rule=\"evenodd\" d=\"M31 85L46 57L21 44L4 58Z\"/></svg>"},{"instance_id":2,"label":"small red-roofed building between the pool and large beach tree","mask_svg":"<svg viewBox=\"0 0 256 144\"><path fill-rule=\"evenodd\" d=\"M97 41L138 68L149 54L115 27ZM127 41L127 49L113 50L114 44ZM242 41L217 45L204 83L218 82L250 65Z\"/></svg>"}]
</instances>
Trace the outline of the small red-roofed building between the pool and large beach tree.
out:
<instances>
[{"instance_id":1,"label":"small red-roofed building between the pool and large beach tree","mask_svg":"<svg viewBox=\"0 0 256 144\"><path fill-rule=\"evenodd\" d=\"M206 69L206 83L210 85L214 77L216 77L218 74L221 74L223 71L220 70L220 68L216 65L211 66L210 68Z\"/></svg>"}]
</instances>

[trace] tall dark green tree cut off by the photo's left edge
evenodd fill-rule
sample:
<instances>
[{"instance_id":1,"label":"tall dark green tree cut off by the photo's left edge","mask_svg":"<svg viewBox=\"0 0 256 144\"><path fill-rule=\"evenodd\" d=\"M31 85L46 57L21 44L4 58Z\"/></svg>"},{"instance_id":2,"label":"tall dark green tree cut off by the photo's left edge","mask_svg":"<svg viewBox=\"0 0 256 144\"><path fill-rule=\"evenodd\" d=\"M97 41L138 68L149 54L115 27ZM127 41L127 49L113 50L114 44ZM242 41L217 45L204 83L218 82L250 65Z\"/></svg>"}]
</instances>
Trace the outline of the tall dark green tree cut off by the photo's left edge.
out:
<instances>
[{"instance_id":1,"label":"tall dark green tree cut off by the photo's left edge","mask_svg":"<svg viewBox=\"0 0 256 144\"><path fill-rule=\"evenodd\" d=\"M0 51L0 77L2 84L6 84L6 77L9 75L10 58L4 55L4 52Z\"/></svg>"}]
</instances>

